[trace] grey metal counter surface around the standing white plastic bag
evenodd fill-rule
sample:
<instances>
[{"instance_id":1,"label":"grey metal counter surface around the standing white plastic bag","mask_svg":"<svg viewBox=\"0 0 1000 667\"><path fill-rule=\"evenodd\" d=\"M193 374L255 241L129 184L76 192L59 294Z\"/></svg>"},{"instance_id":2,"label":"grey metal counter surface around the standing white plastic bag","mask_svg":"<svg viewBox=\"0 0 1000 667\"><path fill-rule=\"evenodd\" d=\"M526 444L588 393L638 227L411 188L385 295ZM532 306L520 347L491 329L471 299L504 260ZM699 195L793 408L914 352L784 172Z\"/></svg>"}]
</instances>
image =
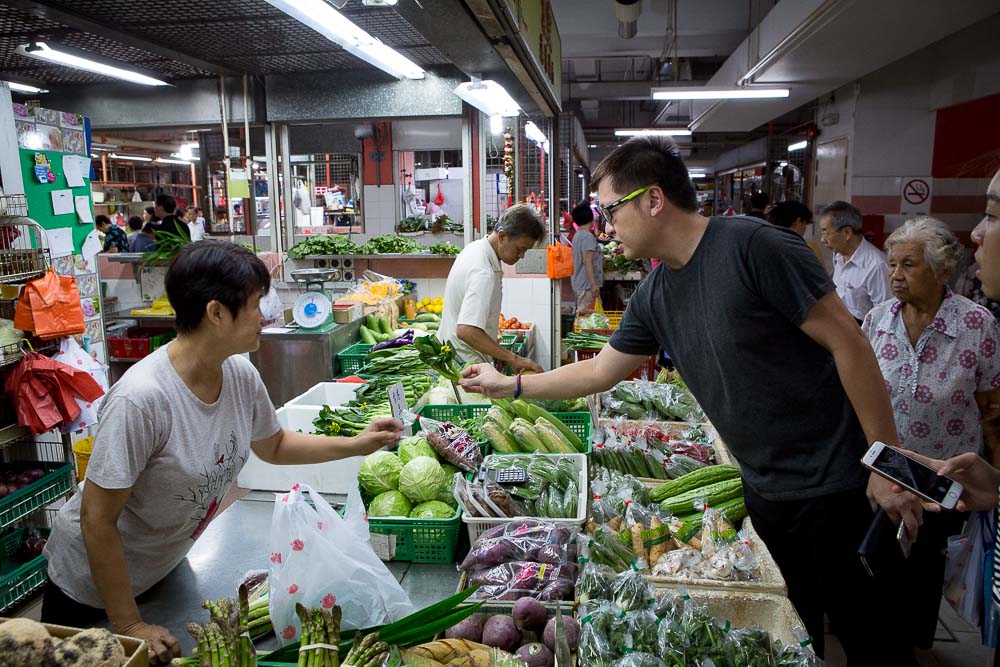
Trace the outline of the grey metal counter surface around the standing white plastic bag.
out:
<instances>
[{"instance_id":1,"label":"grey metal counter surface around the standing white plastic bag","mask_svg":"<svg viewBox=\"0 0 1000 667\"><path fill-rule=\"evenodd\" d=\"M180 641L183 655L191 655L195 646L185 626L208 620L208 612L201 603L235 598L245 573L267 569L273 497L270 493L252 494L226 509L209 524L187 558L166 579L139 597L143 620L167 628ZM416 609L443 600L458 587L459 572L454 563L386 565ZM277 648L273 636L256 645L261 650Z\"/></svg>"}]
</instances>

